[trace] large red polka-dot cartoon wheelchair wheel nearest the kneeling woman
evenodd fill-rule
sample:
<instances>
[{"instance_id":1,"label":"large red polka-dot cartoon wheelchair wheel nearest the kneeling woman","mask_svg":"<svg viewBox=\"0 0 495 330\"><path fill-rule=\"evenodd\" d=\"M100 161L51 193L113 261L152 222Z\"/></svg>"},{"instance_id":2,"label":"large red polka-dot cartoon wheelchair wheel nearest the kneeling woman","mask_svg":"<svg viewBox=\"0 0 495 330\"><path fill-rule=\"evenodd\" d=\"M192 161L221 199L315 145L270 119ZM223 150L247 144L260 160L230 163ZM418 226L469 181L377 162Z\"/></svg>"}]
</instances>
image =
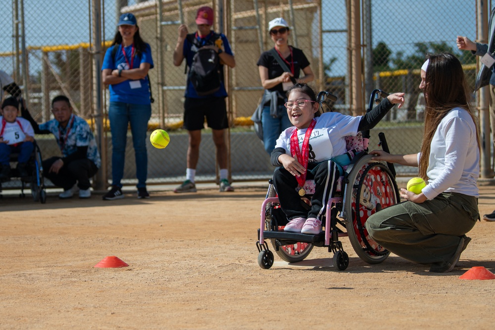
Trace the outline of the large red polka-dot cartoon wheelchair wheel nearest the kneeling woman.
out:
<instances>
[{"instance_id":1,"label":"large red polka-dot cartoon wheelchair wheel nearest the kneeling woman","mask_svg":"<svg viewBox=\"0 0 495 330\"><path fill-rule=\"evenodd\" d=\"M352 248L368 264L379 264L387 259L390 252L370 237L365 223L372 214L395 205L399 195L389 168L371 160L371 157L363 156L349 173L344 209Z\"/></svg>"}]
</instances>

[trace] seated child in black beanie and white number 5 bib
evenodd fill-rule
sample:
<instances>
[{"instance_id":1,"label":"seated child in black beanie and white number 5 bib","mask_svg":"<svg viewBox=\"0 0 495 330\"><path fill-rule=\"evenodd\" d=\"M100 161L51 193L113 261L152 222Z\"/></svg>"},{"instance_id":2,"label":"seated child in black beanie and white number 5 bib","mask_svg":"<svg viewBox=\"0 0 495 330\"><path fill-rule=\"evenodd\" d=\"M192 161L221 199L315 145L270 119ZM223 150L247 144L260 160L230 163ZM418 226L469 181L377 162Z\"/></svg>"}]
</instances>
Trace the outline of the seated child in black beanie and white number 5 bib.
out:
<instances>
[{"instance_id":1,"label":"seated child in black beanie and white number 5 bib","mask_svg":"<svg viewBox=\"0 0 495 330\"><path fill-rule=\"evenodd\" d=\"M17 117L19 102L7 97L1 104L0 116L0 181L10 180L10 155L18 154L17 174L30 176L28 161L34 151L34 130L31 123Z\"/></svg>"}]
</instances>

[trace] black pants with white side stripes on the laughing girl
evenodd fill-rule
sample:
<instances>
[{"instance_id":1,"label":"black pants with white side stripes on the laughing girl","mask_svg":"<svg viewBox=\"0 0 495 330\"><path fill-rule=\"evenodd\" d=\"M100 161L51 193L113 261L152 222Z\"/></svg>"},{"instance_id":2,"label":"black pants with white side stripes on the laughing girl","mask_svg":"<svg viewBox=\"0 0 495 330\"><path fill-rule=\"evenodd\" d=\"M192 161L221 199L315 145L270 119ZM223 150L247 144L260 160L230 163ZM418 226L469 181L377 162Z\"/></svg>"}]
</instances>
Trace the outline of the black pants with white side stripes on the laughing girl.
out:
<instances>
[{"instance_id":1,"label":"black pants with white side stripes on the laughing girl","mask_svg":"<svg viewBox=\"0 0 495 330\"><path fill-rule=\"evenodd\" d=\"M273 174L273 185L277 191L280 207L289 220L295 218L316 218L321 220L325 215L327 202L333 195L337 181L339 180L339 169L332 161L324 161L315 165L308 164L306 180L315 181L315 192L311 197L311 210L307 210L301 203L297 193L297 179L284 167L279 167Z\"/></svg>"}]
</instances>

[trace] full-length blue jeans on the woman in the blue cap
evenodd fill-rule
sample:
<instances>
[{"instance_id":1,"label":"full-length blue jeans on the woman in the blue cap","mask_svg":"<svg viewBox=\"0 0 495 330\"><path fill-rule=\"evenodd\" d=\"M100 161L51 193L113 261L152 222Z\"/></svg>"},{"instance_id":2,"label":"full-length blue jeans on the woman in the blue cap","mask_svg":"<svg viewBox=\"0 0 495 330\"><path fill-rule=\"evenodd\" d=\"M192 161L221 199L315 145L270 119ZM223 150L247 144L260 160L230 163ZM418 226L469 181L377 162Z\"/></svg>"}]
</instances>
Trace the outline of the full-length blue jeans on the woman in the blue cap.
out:
<instances>
[{"instance_id":1,"label":"full-length blue jeans on the woman in the blue cap","mask_svg":"<svg viewBox=\"0 0 495 330\"><path fill-rule=\"evenodd\" d=\"M131 123L132 144L136 158L138 188L146 187L148 176L148 153L146 151L146 131L151 117L151 105L110 102L108 119L112 132L112 185L122 187L124 176L125 146L127 126Z\"/></svg>"}]
</instances>

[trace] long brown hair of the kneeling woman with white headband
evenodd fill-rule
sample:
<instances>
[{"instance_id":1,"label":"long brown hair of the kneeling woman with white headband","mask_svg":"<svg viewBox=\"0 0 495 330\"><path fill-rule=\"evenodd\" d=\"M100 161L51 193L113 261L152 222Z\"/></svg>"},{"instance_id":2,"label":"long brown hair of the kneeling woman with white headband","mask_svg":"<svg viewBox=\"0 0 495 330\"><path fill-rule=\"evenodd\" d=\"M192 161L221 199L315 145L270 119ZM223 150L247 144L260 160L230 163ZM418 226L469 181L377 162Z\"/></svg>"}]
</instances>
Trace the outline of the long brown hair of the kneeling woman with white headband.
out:
<instances>
[{"instance_id":1,"label":"long brown hair of the kneeling woman with white headband","mask_svg":"<svg viewBox=\"0 0 495 330\"><path fill-rule=\"evenodd\" d=\"M458 107L469 112L476 125L478 148L480 146L477 120L469 105L470 92L461 63L457 57L448 53L428 55L427 57L430 62L426 70L426 84L423 90L426 100L425 129L419 158L419 176L424 180L428 179L426 171L429 165L433 135L448 111Z\"/></svg>"}]
</instances>

